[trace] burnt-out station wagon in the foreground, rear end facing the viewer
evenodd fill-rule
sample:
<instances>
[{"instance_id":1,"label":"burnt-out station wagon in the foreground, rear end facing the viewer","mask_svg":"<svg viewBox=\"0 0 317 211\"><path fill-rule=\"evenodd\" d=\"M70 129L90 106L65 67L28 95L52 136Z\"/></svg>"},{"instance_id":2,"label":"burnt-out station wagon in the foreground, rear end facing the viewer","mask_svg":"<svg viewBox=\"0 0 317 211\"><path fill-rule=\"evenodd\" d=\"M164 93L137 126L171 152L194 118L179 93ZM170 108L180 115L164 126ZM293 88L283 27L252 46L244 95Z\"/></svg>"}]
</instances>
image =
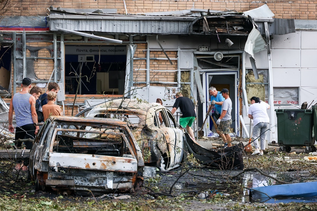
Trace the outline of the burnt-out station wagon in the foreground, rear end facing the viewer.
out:
<instances>
[{"instance_id":1,"label":"burnt-out station wagon in the foreground, rear end facing the viewer","mask_svg":"<svg viewBox=\"0 0 317 211\"><path fill-rule=\"evenodd\" d=\"M134 192L143 176L156 175L156 168L144 166L126 122L51 116L33 142L29 173L36 190L50 186L64 195L87 195Z\"/></svg>"}]
</instances>

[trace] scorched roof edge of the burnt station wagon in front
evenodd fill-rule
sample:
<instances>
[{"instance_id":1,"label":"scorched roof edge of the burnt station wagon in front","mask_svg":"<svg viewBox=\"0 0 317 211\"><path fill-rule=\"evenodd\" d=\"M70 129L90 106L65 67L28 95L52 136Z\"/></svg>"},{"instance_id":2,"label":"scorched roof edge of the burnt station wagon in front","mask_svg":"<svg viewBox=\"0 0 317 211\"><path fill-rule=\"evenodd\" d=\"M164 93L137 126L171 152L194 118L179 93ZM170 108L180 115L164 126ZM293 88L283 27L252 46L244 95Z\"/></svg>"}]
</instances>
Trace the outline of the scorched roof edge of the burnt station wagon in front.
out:
<instances>
[{"instance_id":1,"label":"scorched roof edge of the burnt station wagon in front","mask_svg":"<svg viewBox=\"0 0 317 211\"><path fill-rule=\"evenodd\" d=\"M72 121L72 122L92 122L92 123L105 123L105 124L116 124L126 125L126 122L118 119L110 118L94 118L94 117L72 117L72 116L50 116L49 119L52 121Z\"/></svg>"}]
</instances>

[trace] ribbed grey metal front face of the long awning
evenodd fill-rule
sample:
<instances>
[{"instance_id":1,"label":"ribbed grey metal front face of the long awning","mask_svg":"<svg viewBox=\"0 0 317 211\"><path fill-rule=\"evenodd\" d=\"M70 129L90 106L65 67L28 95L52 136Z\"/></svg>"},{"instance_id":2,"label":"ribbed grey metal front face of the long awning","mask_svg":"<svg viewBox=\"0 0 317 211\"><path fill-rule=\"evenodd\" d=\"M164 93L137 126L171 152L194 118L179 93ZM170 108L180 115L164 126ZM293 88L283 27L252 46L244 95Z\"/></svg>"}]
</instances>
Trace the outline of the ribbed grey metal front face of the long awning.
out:
<instances>
[{"instance_id":1,"label":"ribbed grey metal front face of the long awning","mask_svg":"<svg viewBox=\"0 0 317 211\"><path fill-rule=\"evenodd\" d=\"M82 19L52 18L49 20L49 28L52 31L56 27L75 31L107 32L107 33L141 33L163 34L177 33L187 34L192 20L117 20L117 19Z\"/></svg>"}]
</instances>

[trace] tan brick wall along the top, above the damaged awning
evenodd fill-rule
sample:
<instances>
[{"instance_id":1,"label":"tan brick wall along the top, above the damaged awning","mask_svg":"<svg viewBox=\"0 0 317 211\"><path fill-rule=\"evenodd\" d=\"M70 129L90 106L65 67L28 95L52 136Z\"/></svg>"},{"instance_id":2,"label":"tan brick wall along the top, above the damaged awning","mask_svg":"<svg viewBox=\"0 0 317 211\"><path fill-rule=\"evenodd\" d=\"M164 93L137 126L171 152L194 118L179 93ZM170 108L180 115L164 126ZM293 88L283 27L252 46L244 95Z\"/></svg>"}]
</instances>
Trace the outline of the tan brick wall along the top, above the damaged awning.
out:
<instances>
[{"instance_id":1,"label":"tan brick wall along the top, above the damaged awning","mask_svg":"<svg viewBox=\"0 0 317 211\"><path fill-rule=\"evenodd\" d=\"M213 10L235 9L238 12L257 8L264 3L273 11L276 18L317 19L317 1L253 1L253 0L126 0L128 13L154 11L172 11L202 8ZM15 5L7 15L46 16L50 5L64 8L115 8L118 13L125 13L123 1L115 0L13 0Z\"/></svg>"}]
</instances>

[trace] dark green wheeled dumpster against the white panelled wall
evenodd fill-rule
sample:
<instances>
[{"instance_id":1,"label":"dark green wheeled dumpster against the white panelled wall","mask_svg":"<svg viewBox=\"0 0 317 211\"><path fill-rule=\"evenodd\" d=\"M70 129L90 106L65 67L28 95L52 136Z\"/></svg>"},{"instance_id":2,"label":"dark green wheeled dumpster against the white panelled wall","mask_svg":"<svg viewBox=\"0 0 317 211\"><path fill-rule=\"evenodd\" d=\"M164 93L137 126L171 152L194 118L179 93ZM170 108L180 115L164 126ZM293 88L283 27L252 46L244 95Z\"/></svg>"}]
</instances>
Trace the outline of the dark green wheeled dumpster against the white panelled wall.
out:
<instances>
[{"instance_id":1,"label":"dark green wheeled dumpster against the white panelled wall","mask_svg":"<svg viewBox=\"0 0 317 211\"><path fill-rule=\"evenodd\" d=\"M279 151L291 151L291 146L306 146L305 152L316 152L313 137L313 109L275 109Z\"/></svg>"}]
</instances>

